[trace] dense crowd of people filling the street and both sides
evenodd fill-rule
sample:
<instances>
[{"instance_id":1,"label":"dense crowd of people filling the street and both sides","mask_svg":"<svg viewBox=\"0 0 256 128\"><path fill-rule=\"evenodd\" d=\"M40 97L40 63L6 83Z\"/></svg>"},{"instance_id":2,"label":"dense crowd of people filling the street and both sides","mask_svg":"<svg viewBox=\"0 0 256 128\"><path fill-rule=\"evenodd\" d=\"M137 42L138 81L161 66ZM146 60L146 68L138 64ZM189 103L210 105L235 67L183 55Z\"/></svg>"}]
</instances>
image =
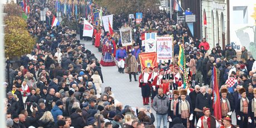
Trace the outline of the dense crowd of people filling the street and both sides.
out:
<instances>
[{"instance_id":1,"label":"dense crowd of people filling the street and both sides","mask_svg":"<svg viewBox=\"0 0 256 128\"><path fill-rule=\"evenodd\" d=\"M30 7L27 28L36 38L36 45L30 54L21 57L19 68L10 68L10 83L3 83L7 127L141 128L156 124L160 128L167 127L168 122L174 128L255 127L256 61L248 57L245 47L237 59L232 46L210 48L206 38L199 41L189 36L188 29L170 19L169 13L147 10L140 26L122 14L114 17L116 28L135 29L133 46L123 47L119 32L110 35L104 28L97 30L101 32L97 47L102 52L98 60L80 43L76 30L40 22L42 4L32 3ZM173 62L141 68L138 56L142 52L141 34L146 31L174 36ZM178 66L180 45L188 67L186 84ZM134 76L141 88L142 104L151 107L134 110L116 101L111 87L102 89L101 66L117 66L120 73L129 74L130 82ZM214 66L223 120L212 116ZM232 115L238 126L233 125Z\"/></svg>"}]
</instances>

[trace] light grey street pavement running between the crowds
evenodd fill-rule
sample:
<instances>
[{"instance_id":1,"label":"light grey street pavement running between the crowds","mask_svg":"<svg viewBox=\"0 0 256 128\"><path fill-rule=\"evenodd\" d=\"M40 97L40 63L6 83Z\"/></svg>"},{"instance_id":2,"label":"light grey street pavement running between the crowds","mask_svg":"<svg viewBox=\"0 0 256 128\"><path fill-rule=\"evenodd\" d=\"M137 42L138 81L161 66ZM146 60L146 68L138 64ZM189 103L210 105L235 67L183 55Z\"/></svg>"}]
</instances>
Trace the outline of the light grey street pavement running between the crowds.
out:
<instances>
[{"instance_id":1,"label":"light grey street pavement running between the crowds","mask_svg":"<svg viewBox=\"0 0 256 128\"><path fill-rule=\"evenodd\" d=\"M92 53L94 53L99 61L101 60L101 53L98 51L98 48L92 45L91 41L81 40L80 42L85 45L87 50L90 50ZM115 100L122 102L124 106L129 105L131 107L139 108L146 108L148 106L143 106L139 82L135 82L133 76L132 82L130 82L129 75L127 73L119 73L117 71L117 66L101 66L101 71L104 79L104 83L102 83L102 92L104 91L105 87L110 86L112 88L112 92L114 92ZM136 77L139 79L139 75ZM152 110L152 112L155 115L155 111ZM237 120L235 119L235 112L232 114L232 124L237 124ZM156 126L156 120L154 125ZM161 126L163 126L163 121Z\"/></svg>"}]
</instances>

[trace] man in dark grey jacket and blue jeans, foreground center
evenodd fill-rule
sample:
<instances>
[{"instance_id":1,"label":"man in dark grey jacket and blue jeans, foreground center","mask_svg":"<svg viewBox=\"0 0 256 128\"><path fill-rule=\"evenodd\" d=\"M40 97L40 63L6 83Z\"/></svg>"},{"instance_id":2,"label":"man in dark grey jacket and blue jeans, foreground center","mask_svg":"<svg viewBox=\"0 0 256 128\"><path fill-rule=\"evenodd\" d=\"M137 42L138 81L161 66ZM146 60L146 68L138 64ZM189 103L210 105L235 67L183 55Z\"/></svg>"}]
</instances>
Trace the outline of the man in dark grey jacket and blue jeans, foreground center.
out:
<instances>
[{"instance_id":1,"label":"man in dark grey jacket and blue jeans, foreground center","mask_svg":"<svg viewBox=\"0 0 256 128\"><path fill-rule=\"evenodd\" d=\"M164 128L167 128L168 105L170 100L163 93L163 88L157 89L157 95L154 97L152 108L156 111L156 127L161 127L163 119Z\"/></svg>"}]
</instances>

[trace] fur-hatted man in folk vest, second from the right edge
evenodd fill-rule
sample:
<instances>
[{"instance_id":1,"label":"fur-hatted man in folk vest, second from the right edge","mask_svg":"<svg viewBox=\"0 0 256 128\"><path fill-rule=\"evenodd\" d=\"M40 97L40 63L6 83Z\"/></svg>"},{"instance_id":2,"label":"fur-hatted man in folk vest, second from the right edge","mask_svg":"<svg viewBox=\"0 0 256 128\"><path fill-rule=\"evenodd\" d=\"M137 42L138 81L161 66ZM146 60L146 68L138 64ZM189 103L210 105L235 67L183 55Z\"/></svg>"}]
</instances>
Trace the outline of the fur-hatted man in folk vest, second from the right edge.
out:
<instances>
[{"instance_id":1,"label":"fur-hatted man in folk vest, second from the right edge","mask_svg":"<svg viewBox=\"0 0 256 128\"><path fill-rule=\"evenodd\" d=\"M246 97L245 88L240 88L239 93L241 98L237 102L237 106L235 107L235 112L237 113L237 119L239 127L245 128L248 124L248 104L249 100Z\"/></svg>"}]
</instances>

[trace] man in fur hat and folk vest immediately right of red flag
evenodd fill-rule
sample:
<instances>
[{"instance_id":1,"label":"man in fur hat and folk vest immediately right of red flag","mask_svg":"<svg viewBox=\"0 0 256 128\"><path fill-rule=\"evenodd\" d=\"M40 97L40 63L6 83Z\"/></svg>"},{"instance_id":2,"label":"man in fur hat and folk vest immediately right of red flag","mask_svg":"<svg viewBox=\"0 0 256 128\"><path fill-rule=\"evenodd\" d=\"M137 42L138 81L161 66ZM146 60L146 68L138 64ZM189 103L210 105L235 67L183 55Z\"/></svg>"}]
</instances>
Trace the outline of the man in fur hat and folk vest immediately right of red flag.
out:
<instances>
[{"instance_id":1,"label":"man in fur hat and folk vest immediately right of red flag","mask_svg":"<svg viewBox=\"0 0 256 128\"><path fill-rule=\"evenodd\" d=\"M232 101L230 101L227 98L228 89L222 88L220 90L220 93L221 93L220 105L221 105L222 118L226 116L231 116L232 112L234 111L234 106L232 104Z\"/></svg>"}]
</instances>

